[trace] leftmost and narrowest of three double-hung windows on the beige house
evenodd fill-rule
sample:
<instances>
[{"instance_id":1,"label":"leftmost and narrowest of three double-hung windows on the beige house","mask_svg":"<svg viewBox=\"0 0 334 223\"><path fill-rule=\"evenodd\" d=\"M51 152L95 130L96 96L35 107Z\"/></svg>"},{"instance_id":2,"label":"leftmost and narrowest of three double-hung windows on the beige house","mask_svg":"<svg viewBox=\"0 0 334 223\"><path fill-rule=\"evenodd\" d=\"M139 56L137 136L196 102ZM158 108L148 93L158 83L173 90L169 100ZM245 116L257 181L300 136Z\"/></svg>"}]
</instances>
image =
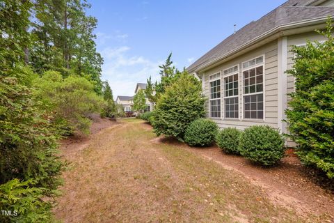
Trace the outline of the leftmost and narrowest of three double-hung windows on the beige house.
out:
<instances>
[{"instance_id":1,"label":"leftmost and narrowest of three double-hung windows on the beige house","mask_svg":"<svg viewBox=\"0 0 334 223\"><path fill-rule=\"evenodd\" d=\"M221 117L221 73L209 76L210 82L210 117Z\"/></svg>"}]
</instances>

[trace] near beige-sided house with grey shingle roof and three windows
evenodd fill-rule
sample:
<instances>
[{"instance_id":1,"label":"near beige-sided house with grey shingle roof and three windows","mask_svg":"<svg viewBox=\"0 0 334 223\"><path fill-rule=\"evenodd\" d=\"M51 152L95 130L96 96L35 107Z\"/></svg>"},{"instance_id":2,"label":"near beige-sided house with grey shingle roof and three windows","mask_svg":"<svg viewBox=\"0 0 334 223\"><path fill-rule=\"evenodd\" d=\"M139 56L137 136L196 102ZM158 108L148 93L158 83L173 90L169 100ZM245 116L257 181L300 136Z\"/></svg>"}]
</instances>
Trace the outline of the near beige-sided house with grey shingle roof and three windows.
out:
<instances>
[{"instance_id":1,"label":"near beige-sided house with grey shingle roof and three windows","mask_svg":"<svg viewBox=\"0 0 334 223\"><path fill-rule=\"evenodd\" d=\"M186 70L202 80L207 116L220 128L270 125L286 132L287 93L294 91L294 77L285 74L293 65L289 51L324 40L315 29L324 29L333 6L334 0L287 1L191 64Z\"/></svg>"}]
</instances>

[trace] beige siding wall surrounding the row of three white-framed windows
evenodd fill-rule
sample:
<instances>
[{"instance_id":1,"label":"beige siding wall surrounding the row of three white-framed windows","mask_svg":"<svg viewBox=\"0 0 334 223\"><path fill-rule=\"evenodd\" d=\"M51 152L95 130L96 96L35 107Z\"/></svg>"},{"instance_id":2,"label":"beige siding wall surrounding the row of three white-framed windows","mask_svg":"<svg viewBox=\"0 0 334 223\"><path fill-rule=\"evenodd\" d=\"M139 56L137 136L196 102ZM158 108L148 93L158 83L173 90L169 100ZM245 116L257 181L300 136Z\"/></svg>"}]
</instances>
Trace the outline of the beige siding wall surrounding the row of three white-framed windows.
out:
<instances>
[{"instance_id":1,"label":"beige siding wall surrounding the row of three white-framed windows","mask_svg":"<svg viewBox=\"0 0 334 223\"><path fill-rule=\"evenodd\" d=\"M242 119L243 116L243 90L242 90L242 66L241 63L249 61L258 56L264 56L264 120L247 120ZM239 56L236 59L232 59L227 63L223 63L221 66L207 70L202 76L202 87L204 87L203 93L207 98L205 108L207 111L207 117L209 117L209 75L214 75L216 72L221 72L223 77L223 70L232 66L239 65L239 119L223 119L212 118L219 128L235 127L243 130L250 125L270 125L273 128L278 128L278 42L277 40L264 45L258 49L253 50L248 54ZM204 79L203 79L204 77ZM221 86L223 80L221 79ZM221 90L221 95L223 91ZM221 97L221 116L223 116L223 97Z\"/></svg>"}]
</instances>

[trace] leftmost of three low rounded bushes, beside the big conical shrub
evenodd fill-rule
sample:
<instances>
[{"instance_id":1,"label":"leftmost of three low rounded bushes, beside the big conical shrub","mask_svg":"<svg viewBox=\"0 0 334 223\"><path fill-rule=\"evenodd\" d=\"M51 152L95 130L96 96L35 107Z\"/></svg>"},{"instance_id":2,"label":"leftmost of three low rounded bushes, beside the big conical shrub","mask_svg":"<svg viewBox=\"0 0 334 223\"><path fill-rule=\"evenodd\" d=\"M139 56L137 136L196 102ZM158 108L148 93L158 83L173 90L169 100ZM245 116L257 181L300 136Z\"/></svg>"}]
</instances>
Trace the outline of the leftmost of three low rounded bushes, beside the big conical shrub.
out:
<instances>
[{"instance_id":1,"label":"leftmost of three low rounded bushes, beside the big conical shrub","mask_svg":"<svg viewBox=\"0 0 334 223\"><path fill-rule=\"evenodd\" d=\"M198 118L191 122L184 133L184 141L189 146L209 146L218 131L216 123L209 119Z\"/></svg>"}]
</instances>

